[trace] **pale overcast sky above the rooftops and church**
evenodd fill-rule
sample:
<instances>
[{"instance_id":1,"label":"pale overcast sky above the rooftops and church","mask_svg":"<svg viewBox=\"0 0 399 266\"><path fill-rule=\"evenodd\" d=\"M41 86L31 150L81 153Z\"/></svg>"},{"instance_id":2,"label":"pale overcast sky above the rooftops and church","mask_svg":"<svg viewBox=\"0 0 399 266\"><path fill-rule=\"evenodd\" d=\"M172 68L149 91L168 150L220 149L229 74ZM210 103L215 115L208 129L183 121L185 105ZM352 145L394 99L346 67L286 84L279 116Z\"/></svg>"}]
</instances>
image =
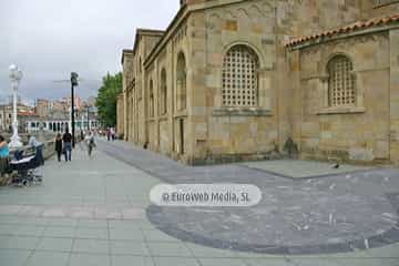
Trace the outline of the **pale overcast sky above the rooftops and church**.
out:
<instances>
[{"instance_id":1,"label":"pale overcast sky above the rooftops and church","mask_svg":"<svg viewBox=\"0 0 399 266\"><path fill-rule=\"evenodd\" d=\"M23 71L24 98L70 93L71 71L84 82L82 98L96 95L106 72L121 71L121 51L136 28L165 29L178 0L0 0L0 96L10 94L10 63Z\"/></svg>"}]
</instances>

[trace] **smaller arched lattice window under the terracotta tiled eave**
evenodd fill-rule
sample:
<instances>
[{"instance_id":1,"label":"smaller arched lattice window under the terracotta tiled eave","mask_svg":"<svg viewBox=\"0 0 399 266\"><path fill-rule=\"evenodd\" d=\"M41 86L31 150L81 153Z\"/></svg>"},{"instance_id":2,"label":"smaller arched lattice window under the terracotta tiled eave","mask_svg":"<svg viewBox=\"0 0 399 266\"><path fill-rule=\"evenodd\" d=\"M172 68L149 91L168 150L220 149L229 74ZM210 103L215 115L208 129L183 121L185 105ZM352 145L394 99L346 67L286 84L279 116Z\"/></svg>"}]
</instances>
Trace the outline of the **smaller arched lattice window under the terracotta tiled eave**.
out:
<instances>
[{"instance_id":1,"label":"smaller arched lattice window under the terracotta tiled eave","mask_svg":"<svg viewBox=\"0 0 399 266\"><path fill-rule=\"evenodd\" d=\"M336 55L328 62L328 102L330 106L355 104L352 70L351 61L345 55Z\"/></svg>"}]
</instances>

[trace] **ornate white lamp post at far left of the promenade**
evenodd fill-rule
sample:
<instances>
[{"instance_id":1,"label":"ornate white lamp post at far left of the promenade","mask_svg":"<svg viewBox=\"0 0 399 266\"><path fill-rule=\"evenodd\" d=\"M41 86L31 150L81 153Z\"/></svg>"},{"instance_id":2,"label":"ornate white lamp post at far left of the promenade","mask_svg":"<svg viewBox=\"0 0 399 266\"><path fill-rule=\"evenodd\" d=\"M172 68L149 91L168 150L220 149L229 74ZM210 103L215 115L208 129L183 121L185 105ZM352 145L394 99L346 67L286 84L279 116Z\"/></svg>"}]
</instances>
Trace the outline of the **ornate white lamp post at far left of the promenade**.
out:
<instances>
[{"instance_id":1,"label":"ornate white lamp post at far left of the promenade","mask_svg":"<svg viewBox=\"0 0 399 266\"><path fill-rule=\"evenodd\" d=\"M18 110L17 110L17 91L18 85L22 79L22 71L18 69L17 65L11 64L10 68L10 80L11 80L11 88L13 93L13 121L12 121L12 136L11 142L9 144L10 147L21 147L22 143L20 141L20 137L18 135Z\"/></svg>"}]
</instances>

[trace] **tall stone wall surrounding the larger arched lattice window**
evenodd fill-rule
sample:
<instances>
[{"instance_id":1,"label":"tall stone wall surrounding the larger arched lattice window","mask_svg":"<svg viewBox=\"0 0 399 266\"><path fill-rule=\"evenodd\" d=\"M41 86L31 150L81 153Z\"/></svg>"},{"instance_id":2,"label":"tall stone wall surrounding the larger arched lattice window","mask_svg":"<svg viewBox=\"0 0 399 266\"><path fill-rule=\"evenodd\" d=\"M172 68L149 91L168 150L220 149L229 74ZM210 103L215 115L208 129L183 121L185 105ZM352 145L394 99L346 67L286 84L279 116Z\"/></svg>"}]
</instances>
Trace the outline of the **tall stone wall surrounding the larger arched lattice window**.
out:
<instances>
[{"instance_id":1,"label":"tall stone wall surrounding the larger arched lattice window","mask_svg":"<svg viewBox=\"0 0 399 266\"><path fill-rule=\"evenodd\" d=\"M275 12L265 1L236 3L193 13L193 161L224 161L270 153L277 145ZM225 54L235 45L255 52L259 62L258 106L226 109L222 103Z\"/></svg>"}]
</instances>

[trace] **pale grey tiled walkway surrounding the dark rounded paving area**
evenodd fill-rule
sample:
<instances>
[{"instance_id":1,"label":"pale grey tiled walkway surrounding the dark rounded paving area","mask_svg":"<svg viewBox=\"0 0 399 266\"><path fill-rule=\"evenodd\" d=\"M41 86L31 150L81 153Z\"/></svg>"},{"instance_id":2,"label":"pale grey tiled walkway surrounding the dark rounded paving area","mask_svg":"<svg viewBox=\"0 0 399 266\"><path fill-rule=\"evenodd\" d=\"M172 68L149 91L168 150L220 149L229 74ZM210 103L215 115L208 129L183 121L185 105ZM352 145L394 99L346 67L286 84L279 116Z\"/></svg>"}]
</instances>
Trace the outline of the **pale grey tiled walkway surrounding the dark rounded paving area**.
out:
<instances>
[{"instance_id":1,"label":"pale grey tiled walkway surrounding the dark rounded paving area","mask_svg":"<svg viewBox=\"0 0 399 266\"><path fill-rule=\"evenodd\" d=\"M237 171L244 177L255 172L213 168L204 176L209 168L182 166L122 142L100 143L108 153L112 147L122 151L125 161L133 155L142 160L137 164L142 170L99 151L89 160L85 151L76 149L71 163L47 162L41 186L0 188L0 265L399 265L397 244L287 256L218 249L172 237L147 219L151 187L177 177L198 182L212 181L212 173L223 171ZM153 173L147 168L151 164ZM173 177L174 167L181 176Z\"/></svg>"}]
</instances>

